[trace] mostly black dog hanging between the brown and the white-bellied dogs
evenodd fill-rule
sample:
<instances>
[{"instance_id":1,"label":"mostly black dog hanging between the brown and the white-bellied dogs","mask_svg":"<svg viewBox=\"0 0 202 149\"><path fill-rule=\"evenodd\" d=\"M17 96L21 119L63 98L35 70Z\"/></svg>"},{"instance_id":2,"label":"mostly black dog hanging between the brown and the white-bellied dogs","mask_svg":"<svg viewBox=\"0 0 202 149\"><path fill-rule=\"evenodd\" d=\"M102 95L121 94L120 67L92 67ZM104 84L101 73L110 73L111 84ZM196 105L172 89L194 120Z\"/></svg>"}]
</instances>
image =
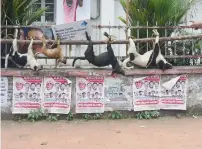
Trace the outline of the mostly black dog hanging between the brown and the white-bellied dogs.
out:
<instances>
[{"instance_id":1,"label":"mostly black dog hanging between the brown and the white-bellied dogs","mask_svg":"<svg viewBox=\"0 0 202 149\"><path fill-rule=\"evenodd\" d=\"M108 33L104 32L104 36L106 36L108 38L107 52L104 52L104 53L99 54L98 56L95 56L94 51L93 51L93 43L92 43L91 37L88 35L87 32L85 32L85 33L86 33L86 39L89 41L88 47L87 47L86 51L84 52L85 57L76 57L73 60L72 66L74 67L75 62L78 59L87 60L89 63L91 63L95 66L98 66L98 67L112 65L112 68L113 68L112 75L114 73L125 75L125 72L119 65L119 62L118 62L117 58L115 57L114 51L111 47L111 42L112 42L111 36Z\"/></svg>"}]
</instances>

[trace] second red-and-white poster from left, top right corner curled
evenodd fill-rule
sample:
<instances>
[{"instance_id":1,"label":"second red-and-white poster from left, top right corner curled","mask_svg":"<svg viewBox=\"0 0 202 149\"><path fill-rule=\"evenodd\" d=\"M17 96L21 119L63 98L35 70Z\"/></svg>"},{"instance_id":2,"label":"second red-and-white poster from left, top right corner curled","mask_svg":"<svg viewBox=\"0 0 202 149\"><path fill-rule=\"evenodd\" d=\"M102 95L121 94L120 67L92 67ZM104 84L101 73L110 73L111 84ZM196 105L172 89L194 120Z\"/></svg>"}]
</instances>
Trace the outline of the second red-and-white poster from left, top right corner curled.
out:
<instances>
[{"instance_id":1,"label":"second red-and-white poster from left, top right corner curled","mask_svg":"<svg viewBox=\"0 0 202 149\"><path fill-rule=\"evenodd\" d=\"M68 114L71 104L72 82L66 77L44 77L43 108L48 113Z\"/></svg>"}]
</instances>

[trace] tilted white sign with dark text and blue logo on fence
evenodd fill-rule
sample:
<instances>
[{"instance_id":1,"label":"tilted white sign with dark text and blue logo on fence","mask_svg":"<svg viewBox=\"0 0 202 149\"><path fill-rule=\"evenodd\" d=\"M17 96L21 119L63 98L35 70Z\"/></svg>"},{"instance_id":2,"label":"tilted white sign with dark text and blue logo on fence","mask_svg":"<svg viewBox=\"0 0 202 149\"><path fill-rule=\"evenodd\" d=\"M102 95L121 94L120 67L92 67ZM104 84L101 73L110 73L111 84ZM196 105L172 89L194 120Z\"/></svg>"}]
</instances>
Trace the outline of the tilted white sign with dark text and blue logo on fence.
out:
<instances>
[{"instance_id":1,"label":"tilted white sign with dark text and blue logo on fence","mask_svg":"<svg viewBox=\"0 0 202 149\"><path fill-rule=\"evenodd\" d=\"M68 24L53 25L53 35L55 39L61 40L86 40L85 32L91 33L92 26L90 20L72 22Z\"/></svg>"}]
</instances>

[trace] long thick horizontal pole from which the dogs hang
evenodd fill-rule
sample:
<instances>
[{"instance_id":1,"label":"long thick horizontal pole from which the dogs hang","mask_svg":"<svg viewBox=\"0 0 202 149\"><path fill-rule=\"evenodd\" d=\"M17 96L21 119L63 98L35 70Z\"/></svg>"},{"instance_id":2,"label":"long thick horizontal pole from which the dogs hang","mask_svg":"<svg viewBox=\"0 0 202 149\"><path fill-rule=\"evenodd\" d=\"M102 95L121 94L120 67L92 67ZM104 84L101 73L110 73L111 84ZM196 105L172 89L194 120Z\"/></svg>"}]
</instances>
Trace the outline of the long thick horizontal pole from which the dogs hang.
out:
<instances>
[{"instance_id":1,"label":"long thick horizontal pole from which the dogs hang","mask_svg":"<svg viewBox=\"0 0 202 149\"><path fill-rule=\"evenodd\" d=\"M202 39L202 34L199 35L188 35L188 36L178 36L178 37L160 37L159 41L173 41L173 40L185 40L185 39ZM141 38L141 39L134 39L135 43L145 43L145 42L153 42L155 38ZM0 43L12 43L13 39L1 39ZM18 43L29 44L30 40L17 40ZM34 40L36 44L42 44L41 40ZM47 43L55 43L55 40L47 40ZM105 41L97 40L92 41L93 44L106 44ZM128 40L116 40L112 44L128 44ZM88 45L87 40L62 40L60 41L61 45Z\"/></svg>"}]
</instances>

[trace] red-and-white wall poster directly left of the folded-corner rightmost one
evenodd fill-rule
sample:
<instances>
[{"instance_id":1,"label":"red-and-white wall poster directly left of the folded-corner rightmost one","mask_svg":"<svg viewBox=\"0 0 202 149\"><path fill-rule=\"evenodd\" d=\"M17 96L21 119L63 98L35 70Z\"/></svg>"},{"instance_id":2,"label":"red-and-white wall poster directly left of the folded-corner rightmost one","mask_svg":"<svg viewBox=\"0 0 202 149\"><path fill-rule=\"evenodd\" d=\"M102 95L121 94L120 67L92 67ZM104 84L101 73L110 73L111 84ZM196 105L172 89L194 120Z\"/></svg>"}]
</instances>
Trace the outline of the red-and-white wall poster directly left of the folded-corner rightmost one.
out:
<instances>
[{"instance_id":1,"label":"red-and-white wall poster directly left of the folded-corner rightmost one","mask_svg":"<svg viewBox=\"0 0 202 149\"><path fill-rule=\"evenodd\" d=\"M134 78L134 111L159 110L160 75Z\"/></svg>"}]
</instances>

